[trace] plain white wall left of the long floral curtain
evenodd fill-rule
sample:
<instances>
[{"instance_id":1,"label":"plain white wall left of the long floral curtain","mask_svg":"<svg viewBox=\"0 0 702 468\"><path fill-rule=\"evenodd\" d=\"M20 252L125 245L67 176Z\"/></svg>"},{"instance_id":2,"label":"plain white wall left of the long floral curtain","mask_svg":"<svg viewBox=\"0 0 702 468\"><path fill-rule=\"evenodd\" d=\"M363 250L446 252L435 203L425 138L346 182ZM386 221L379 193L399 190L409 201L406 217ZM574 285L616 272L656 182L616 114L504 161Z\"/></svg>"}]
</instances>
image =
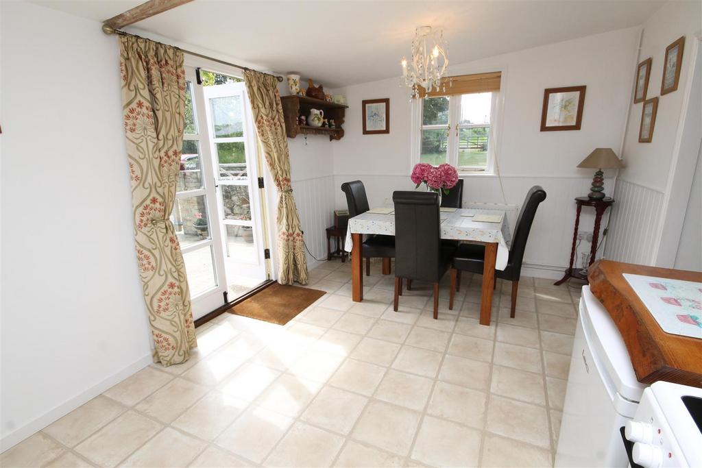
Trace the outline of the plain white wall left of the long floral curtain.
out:
<instances>
[{"instance_id":1,"label":"plain white wall left of the long floral curtain","mask_svg":"<svg viewBox=\"0 0 702 468\"><path fill-rule=\"evenodd\" d=\"M151 358L116 41L48 8L0 8L6 448Z\"/></svg>"}]
</instances>

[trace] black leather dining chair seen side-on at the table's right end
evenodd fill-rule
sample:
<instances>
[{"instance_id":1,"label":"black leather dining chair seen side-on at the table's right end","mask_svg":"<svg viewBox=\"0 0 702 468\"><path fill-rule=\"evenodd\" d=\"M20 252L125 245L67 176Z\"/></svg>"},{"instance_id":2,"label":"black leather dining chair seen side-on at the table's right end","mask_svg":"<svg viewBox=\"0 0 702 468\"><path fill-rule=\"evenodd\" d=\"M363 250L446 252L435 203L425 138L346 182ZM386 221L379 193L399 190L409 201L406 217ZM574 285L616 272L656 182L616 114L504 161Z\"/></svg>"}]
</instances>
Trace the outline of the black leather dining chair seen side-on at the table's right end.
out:
<instances>
[{"instance_id":1,"label":"black leather dining chair seen side-on at the table's right end","mask_svg":"<svg viewBox=\"0 0 702 468\"><path fill-rule=\"evenodd\" d=\"M522 274L522 260L524 259L524 249L527 248L527 240L531 231L531 224L536 216L536 208L539 203L546 199L546 192L538 185L534 185L529 189L527 198L524 199L522 210L519 211L519 218L515 225L515 234L512 236L512 244L510 245L510 256L507 260L507 267L503 270L495 270L495 277L507 281L512 281L512 305L510 307L510 317L515 316L515 307L517 307L517 288L519 288L519 276ZM482 274L483 264L485 260L484 246L464 243L453 256L451 262L451 293L449 297L449 308L453 306L453 296L456 290L460 288L458 283L458 274L461 270L466 272Z\"/></svg>"}]
</instances>

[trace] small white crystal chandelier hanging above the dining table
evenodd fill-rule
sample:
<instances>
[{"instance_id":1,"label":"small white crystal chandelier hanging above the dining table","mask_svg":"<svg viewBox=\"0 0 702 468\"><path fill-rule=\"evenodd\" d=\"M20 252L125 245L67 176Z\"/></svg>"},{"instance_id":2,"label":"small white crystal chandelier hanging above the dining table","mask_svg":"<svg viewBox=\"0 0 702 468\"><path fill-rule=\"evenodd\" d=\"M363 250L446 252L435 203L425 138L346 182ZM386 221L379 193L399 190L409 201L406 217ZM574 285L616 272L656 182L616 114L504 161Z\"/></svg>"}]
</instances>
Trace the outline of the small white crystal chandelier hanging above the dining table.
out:
<instances>
[{"instance_id":1,"label":"small white crystal chandelier hanging above the dining table","mask_svg":"<svg viewBox=\"0 0 702 468\"><path fill-rule=\"evenodd\" d=\"M442 76L449 66L449 57L446 55L446 41L444 41L444 31L431 26L418 27L414 33L412 41L412 62L407 63L405 57L402 58L402 77L404 83L412 88L412 97L419 97L419 86L427 93L432 90L439 91L439 88L446 88L442 85Z\"/></svg>"}]
</instances>

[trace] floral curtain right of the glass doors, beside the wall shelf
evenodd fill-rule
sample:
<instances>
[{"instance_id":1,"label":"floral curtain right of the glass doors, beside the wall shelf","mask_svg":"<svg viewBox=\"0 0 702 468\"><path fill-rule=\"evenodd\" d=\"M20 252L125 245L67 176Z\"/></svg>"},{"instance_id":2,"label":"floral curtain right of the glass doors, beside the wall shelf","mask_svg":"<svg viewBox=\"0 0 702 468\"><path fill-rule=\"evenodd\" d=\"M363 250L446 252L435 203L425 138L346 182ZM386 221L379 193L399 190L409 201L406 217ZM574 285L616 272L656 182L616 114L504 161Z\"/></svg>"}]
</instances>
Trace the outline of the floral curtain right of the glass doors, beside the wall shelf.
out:
<instances>
[{"instance_id":1,"label":"floral curtain right of the glass doors, beside the wall shelf","mask_svg":"<svg viewBox=\"0 0 702 468\"><path fill-rule=\"evenodd\" d=\"M246 70L246 90L266 164L278 189L278 282L307 284L307 258L298 208L290 185L290 154L277 80L269 74Z\"/></svg>"}]
</instances>

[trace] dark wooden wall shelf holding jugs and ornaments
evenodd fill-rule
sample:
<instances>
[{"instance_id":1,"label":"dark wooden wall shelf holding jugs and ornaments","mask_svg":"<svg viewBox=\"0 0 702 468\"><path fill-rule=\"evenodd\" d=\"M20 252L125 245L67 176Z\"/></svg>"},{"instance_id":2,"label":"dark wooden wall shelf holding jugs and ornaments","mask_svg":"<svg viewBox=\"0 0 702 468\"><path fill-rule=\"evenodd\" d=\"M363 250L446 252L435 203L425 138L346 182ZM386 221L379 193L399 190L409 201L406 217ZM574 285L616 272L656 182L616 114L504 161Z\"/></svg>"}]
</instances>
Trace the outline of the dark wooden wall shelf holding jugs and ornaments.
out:
<instances>
[{"instance_id":1,"label":"dark wooden wall shelf holding jugs and ornaments","mask_svg":"<svg viewBox=\"0 0 702 468\"><path fill-rule=\"evenodd\" d=\"M303 135L329 135L329 141L343 138L344 129L342 126L345 109L348 106L297 95L282 96L280 100L283 105L285 133L288 135L288 138L295 138L300 133ZM324 118L333 119L335 128L298 125L298 115L308 116L310 109L323 110Z\"/></svg>"}]
</instances>

